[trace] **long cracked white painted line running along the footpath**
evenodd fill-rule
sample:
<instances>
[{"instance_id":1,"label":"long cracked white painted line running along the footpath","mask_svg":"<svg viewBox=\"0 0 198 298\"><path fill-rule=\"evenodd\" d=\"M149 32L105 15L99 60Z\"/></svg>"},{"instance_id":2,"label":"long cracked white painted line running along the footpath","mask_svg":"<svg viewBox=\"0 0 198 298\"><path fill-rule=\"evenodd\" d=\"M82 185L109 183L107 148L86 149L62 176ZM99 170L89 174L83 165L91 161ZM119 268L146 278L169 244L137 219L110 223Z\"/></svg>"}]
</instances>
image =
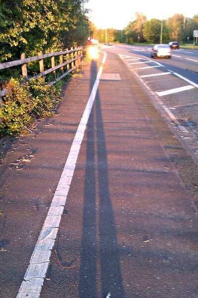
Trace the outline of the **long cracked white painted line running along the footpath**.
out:
<instances>
[{"instance_id":1,"label":"long cracked white painted line running along the footpath","mask_svg":"<svg viewBox=\"0 0 198 298\"><path fill-rule=\"evenodd\" d=\"M103 52L102 52L103 53ZM81 143L83 141L86 125L92 110L92 106L99 86L99 78L102 73L102 67L106 60L106 53L103 53L102 65L99 68L97 79L92 88L92 92L76 135L74 137L71 149L69 151L64 169L58 182L54 197L49 207L49 212L40 232L37 244L32 253L30 264L26 270L24 281L22 282L17 298L39 298L40 292L46 276L51 250L53 248L61 215L66 203L67 194L73 178Z\"/></svg>"}]
</instances>

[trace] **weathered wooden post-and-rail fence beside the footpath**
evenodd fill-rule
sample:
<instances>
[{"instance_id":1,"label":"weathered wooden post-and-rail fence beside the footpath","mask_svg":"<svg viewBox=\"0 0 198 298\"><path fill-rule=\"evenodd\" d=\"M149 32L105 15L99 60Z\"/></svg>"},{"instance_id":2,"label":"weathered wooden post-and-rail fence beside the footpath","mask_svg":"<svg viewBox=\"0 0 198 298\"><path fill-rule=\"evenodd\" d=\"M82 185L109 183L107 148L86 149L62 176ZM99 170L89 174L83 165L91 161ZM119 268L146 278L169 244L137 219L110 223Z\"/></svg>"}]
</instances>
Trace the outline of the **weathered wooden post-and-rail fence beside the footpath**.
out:
<instances>
[{"instance_id":1,"label":"weathered wooden post-and-rail fence beside the footpath","mask_svg":"<svg viewBox=\"0 0 198 298\"><path fill-rule=\"evenodd\" d=\"M59 56L59 64L55 65L55 57ZM15 60L11 62L1 63L0 70L8 69L15 66L21 65L21 74L24 78L36 78L38 76L44 76L53 73L53 81L49 82L49 84L54 84L64 76L74 72L77 68L81 66L83 57L83 48L71 48L70 50L61 51L61 52L54 52L51 51L49 54L43 54L42 52L39 53L38 56L26 58L25 53L21 54L20 60ZM44 59L51 58L51 68L45 70L45 63ZM40 73L31 77L28 77L28 63L33 61L39 62ZM56 71L60 69L61 75L56 77ZM9 92L9 89L0 89L0 106L2 106L2 97L5 96Z\"/></svg>"}]
</instances>

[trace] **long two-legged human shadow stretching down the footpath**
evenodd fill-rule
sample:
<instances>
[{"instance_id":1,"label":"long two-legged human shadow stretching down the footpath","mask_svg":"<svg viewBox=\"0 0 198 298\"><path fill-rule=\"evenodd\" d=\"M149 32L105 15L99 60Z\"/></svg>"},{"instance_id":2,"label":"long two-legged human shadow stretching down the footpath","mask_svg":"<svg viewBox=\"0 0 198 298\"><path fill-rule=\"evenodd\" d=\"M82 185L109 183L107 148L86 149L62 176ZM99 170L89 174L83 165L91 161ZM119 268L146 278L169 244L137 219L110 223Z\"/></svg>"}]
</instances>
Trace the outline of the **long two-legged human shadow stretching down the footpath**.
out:
<instances>
[{"instance_id":1,"label":"long two-legged human shadow stretching down the footpath","mask_svg":"<svg viewBox=\"0 0 198 298\"><path fill-rule=\"evenodd\" d=\"M92 62L91 75L93 83L97 76L95 61ZM98 177L98 181L96 177ZM99 210L97 210L96 202L97 182L99 184L97 188L99 190ZM97 216L99 217L98 227ZM97 228L99 230L98 246ZM99 91L87 126L87 165L79 298L98 298L97 284L98 286L101 284L101 290L99 290L101 298L106 298L109 292L112 297L125 298L114 212L108 187L106 141Z\"/></svg>"}]
</instances>

